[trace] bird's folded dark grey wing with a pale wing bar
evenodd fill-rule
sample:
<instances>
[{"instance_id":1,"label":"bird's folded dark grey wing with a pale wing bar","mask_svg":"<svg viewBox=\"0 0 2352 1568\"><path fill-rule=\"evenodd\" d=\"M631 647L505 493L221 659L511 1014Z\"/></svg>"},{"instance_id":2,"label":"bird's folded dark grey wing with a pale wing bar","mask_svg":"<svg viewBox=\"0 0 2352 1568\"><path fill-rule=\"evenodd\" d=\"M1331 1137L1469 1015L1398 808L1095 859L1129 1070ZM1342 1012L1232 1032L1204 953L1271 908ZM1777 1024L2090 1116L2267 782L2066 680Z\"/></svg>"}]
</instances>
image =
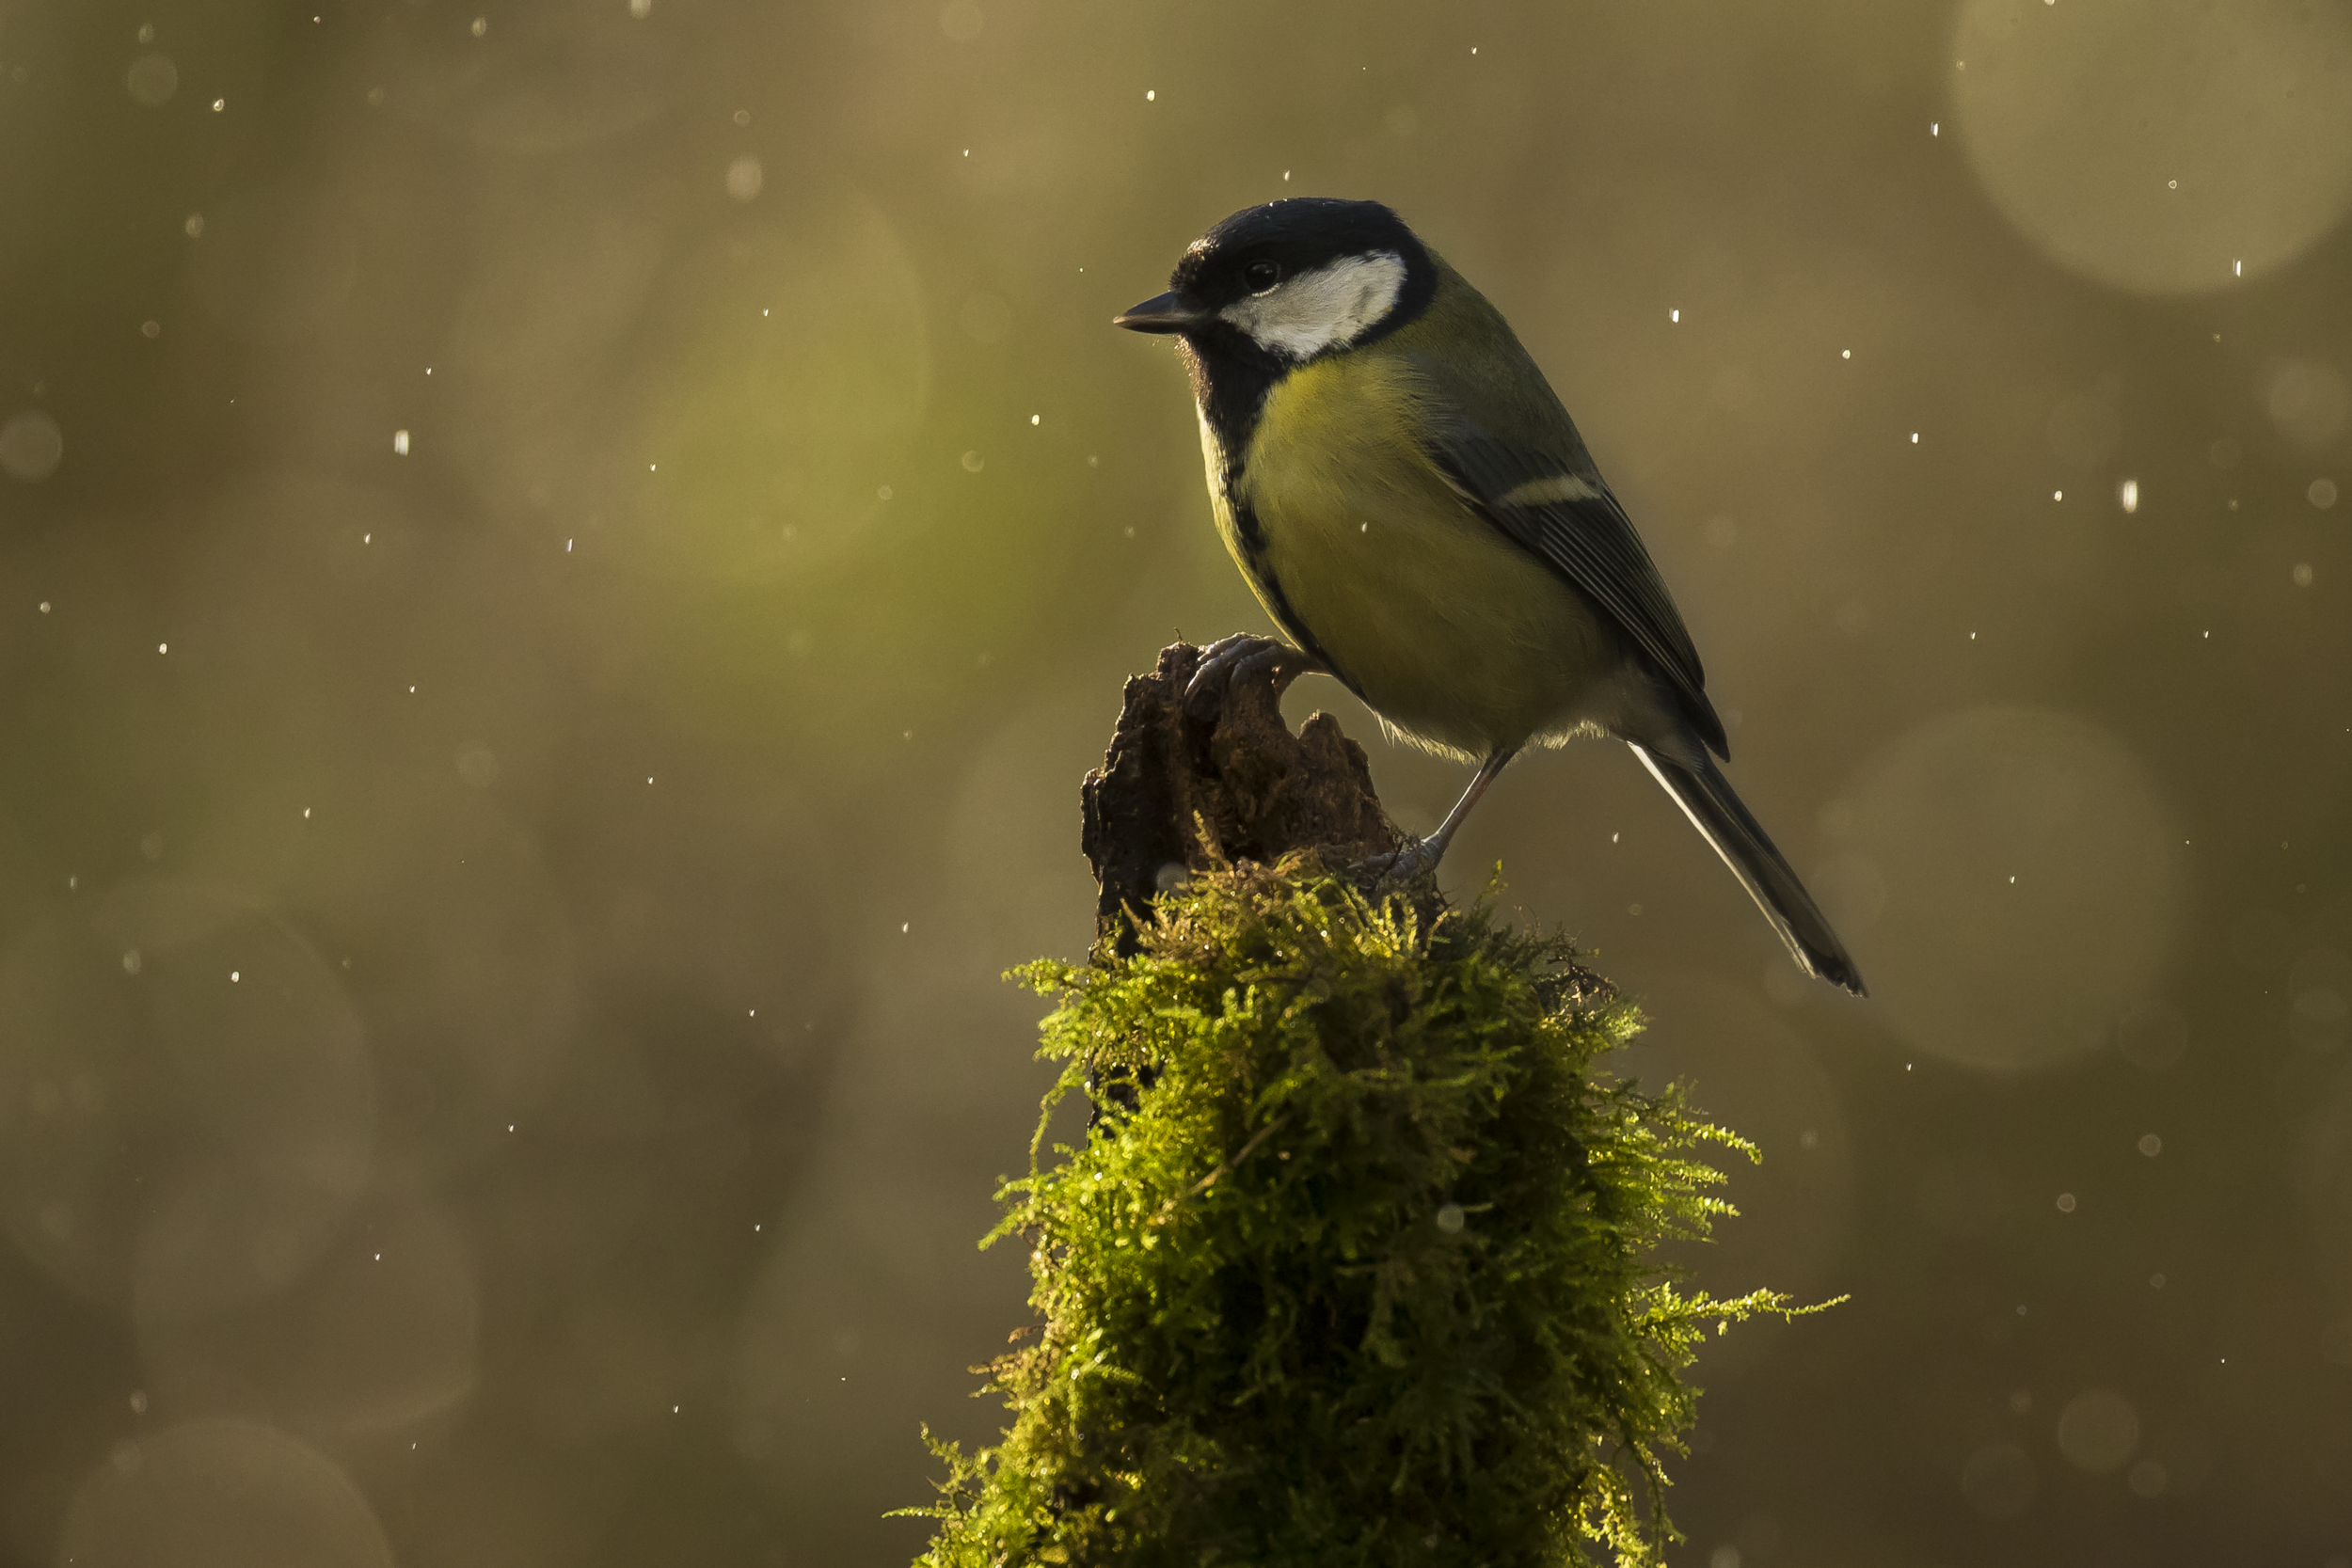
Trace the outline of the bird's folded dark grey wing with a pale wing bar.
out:
<instances>
[{"instance_id":1,"label":"bird's folded dark grey wing with a pale wing bar","mask_svg":"<svg viewBox=\"0 0 2352 1568\"><path fill-rule=\"evenodd\" d=\"M1564 440L1536 444L1498 437L1458 407L1432 414L1430 461L1470 510L1590 595L1665 677L1708 748L1729 757L1691 632L1566 416Z\"/></svg>"}]
</instances>

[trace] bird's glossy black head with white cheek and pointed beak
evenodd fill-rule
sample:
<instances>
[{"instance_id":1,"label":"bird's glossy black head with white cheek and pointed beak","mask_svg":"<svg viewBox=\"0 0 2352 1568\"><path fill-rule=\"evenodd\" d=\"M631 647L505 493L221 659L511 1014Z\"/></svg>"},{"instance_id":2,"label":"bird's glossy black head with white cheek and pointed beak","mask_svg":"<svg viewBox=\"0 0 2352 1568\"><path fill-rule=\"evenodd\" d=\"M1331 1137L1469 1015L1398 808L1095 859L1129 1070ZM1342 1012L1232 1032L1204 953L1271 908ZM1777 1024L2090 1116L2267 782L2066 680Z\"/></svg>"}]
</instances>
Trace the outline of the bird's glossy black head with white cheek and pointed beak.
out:
<instances>
[{"instance_id":1,"label":"bird's glossy black head with white cheek and pointed beak","mask_svg":"<svg viewBox=\"0 0 2352 1568\"><path fill-rule=\"evenodd\" d=\"M1437 268L1381 202L1298 195L1244 207L1204 233L1169 284L1117 324L1174 331L1200 357L1279 374L1421 315Z\"/></svg>"}]
</instances>

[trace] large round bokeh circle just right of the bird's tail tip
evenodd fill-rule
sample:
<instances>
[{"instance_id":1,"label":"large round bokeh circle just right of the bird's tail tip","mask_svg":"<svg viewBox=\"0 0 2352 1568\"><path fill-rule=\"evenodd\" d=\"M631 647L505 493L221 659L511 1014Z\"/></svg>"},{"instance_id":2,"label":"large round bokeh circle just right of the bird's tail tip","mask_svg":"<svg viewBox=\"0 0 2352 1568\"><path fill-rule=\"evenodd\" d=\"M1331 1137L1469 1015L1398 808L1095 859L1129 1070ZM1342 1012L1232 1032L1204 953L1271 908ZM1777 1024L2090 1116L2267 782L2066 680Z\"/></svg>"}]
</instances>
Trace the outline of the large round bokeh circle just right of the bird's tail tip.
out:
<instances>
[{"instance_id":1,"label":"large round bokeh circle just right of the bird's tail tip","mask_svg":"<svg viewBox=\"0 0 2352 1568\"><path fill-rule=\"evenodd\" d=\"M1849 919L1884 1018L1917 1048L1990 1070L2053 1067L2114 1039L2180 919L2185 860L2138 759L2042 708L1929 719L1825 813L1835 875L1875 872ZM1846 858L1846 860L1839 860Z\"/></svg>"}]
</instances>

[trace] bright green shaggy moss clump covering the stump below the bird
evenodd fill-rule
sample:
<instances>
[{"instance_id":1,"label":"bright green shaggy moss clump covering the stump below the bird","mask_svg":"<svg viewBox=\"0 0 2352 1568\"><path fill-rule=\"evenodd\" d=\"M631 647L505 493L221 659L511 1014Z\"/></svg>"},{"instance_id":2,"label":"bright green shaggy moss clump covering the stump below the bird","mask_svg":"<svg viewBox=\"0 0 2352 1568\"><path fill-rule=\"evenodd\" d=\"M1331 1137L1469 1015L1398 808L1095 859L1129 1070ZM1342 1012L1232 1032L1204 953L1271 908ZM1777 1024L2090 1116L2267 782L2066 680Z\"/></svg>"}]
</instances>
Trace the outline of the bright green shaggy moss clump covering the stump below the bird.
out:
<instances>
[{"instance_id":1,"label":"bright green shaggy moss clump covering the stump below the bird","mask_svg":"<svg viewBox=\"0 0 2352 1568\"><path fill-rule=\"evenodd\" d=\"M1000 1194L1044 1321L985 1368L1004 1441L936 1446L922 1566L1653 1561L1679 1368L1788 1307L1656 1265L1726 1213L1693 1147L1752 1150L1597 1067L1639 1016L1571 957L1291 863L1018 971L1061 994L1047 1117L1143 1088Z\"/></svg>"}]
</instances>

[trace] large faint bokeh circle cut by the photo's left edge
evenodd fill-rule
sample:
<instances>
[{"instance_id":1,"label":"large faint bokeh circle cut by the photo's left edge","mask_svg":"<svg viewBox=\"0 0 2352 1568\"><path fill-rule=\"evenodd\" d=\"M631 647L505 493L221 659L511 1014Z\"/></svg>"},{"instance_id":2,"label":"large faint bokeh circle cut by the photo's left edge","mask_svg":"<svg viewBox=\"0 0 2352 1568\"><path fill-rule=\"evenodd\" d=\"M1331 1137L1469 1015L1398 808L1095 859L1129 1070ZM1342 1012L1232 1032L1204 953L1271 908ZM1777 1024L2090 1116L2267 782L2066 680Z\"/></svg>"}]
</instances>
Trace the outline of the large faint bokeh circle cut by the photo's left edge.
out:
<instances>
[{"instance_id":1,"label":"large faint bokeh circle cut by the photo's left edge","mask_svg":"<svg viewBox=\"0 0 2352 1568\"><path fill-rule=\"evenodd\" d=\"M303 1274L369 1185L376 1095L320 954L221 889L132 884L0 954L0 1227L165 1319Z\"/></svg>"}]
</instances>

